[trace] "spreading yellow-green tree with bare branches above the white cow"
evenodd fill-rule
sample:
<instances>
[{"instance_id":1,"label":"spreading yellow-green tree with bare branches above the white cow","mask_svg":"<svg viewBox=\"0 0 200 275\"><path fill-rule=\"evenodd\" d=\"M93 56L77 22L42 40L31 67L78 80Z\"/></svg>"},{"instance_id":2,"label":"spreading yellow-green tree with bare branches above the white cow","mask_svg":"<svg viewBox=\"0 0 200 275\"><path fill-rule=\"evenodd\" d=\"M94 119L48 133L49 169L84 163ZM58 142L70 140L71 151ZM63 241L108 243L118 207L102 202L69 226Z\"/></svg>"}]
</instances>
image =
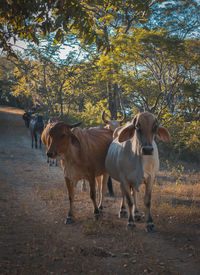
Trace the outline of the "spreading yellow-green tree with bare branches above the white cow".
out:
<instances>
[{"instance_id":1,"label":"spreading yellow-green tree with bare branches above the white cow","mask_svg":"<svg viewBox=\"0 0 200 275\"><path fill-rule=\"evenodd\" d=\"M115 49L110 56L118 64L118 81L123 95L132 106L162 114L166 108L178 111L184 97L184 84L197 82L199 69L197 39L182 40L170 37L168 32L133 29L112 43Z\"/></svg>"}]
</instances>

